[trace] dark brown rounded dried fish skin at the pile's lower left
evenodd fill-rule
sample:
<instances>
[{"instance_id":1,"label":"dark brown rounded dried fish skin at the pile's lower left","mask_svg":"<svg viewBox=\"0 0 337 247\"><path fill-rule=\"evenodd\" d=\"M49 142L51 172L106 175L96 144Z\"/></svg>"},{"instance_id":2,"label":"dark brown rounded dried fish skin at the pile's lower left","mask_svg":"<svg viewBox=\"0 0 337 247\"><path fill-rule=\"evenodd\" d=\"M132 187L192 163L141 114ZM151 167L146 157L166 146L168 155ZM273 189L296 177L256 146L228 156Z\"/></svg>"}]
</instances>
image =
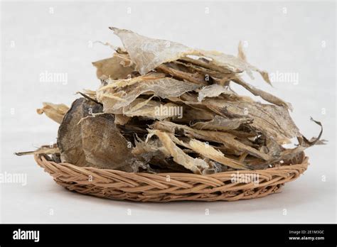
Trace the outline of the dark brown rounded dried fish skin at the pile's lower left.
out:
<instances>
[{"instance_id":1,"label":"dark brown rounded dried fish skin at the pile's lower left","mask_svg":"<svg viewBox=\"0 0 337 247\"><path fill-rule=\"evenodd\" d=\"M134 171L142 164L119 133L114 116L85 98L73 102L58 131L60 160L77 166Z\"/></svg>"}]
</instances>

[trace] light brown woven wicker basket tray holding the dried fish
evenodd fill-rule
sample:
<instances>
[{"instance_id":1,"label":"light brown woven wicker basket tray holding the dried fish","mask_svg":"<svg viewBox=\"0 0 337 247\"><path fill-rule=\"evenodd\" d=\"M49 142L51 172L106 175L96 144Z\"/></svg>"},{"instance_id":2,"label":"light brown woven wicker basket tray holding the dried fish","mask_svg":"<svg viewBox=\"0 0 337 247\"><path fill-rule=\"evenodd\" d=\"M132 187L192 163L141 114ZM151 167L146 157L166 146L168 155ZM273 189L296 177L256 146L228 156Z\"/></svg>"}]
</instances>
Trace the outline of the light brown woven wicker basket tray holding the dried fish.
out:
<instances>
[{"instance_id":1,"label":"light brown woven wicker basket tray holding the dried fish","mask_svg":"<svg viewBox=\"0 0 337 247\"><path fill-rule=\"evenodd\" d=\"M59 185L95 197L139 202L236 201L280 192L286 182L296 180L308 167L301 153L283 164L265 170L239 170L212 175L192 173L132 173L49 161L34 155ZM250 182L251 181L251 182Z\"/></svg>"}]
</instances>

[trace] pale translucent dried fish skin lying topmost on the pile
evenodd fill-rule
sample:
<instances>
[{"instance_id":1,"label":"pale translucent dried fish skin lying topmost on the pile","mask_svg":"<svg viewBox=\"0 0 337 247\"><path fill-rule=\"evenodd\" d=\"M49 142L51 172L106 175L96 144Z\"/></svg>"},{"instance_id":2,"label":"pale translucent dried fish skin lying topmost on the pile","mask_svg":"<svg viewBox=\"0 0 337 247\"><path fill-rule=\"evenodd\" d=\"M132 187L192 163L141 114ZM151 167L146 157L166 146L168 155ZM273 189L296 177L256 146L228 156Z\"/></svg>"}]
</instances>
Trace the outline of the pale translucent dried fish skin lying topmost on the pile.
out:
<instances>
[{"instance_id":1,"label":"pale translucent dried fish skin lying topmost on the pile","mask_svg":"<svg viewBox=\"0 0 337 247\"><path fill-rule=\"evenodd\" d=\"M145 75L165 62L172 62L188 55L208 57L211 63L218 67L231 71L246 71L250 77L252 77L252 71L261 72L245 60L234 55L227 55L217 51L196 50L180 43L148 38L125 29L114 27L110 29L122 40L124 48L129 53L132 62L136 64L135 68L141 75ZM268 77L265 76L265 73L262 72L262 77L267 79Z\"/></svg>"}]
</instances>

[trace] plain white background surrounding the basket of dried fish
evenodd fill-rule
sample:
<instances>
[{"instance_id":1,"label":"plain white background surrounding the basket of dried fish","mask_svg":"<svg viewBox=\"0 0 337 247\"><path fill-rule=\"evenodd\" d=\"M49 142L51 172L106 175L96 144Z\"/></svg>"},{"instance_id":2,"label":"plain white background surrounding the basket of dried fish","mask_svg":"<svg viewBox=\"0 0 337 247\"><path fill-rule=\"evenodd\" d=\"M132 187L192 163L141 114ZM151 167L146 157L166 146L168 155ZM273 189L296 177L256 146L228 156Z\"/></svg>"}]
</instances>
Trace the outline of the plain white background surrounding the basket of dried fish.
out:
<instances>
[{"instance_id":1,"label":"plain white background surrounding the basket of dried fish","mask_svg":"<svg viewBox=\"0 0 337 247\"><path fill-rule=\"evenodd\" d=\"M0 184L1 222L336 222L333 1L3 1L0 13L1 172L28 176L26 186ZM36 114L41 102L70 105L78 90L97 89L99 81L91 62L109 57L112 50L90 44L101 40L121 45L108 26L233 55L239 40L246 40L247 59L253 65L271 73L299 75L298 84L274 82L273 88L260 75L250 82L291 102L291 116L305 136L319 133L310 116L322 121L328 144L309 148L306 154L311 165L304 175L285 185L282 193L262 199L156 204L68 192L32 156L13 153L55 142L58 124ZM68 83L40 82L40 74L46 71L68 73ZM127 214L129 209L132 215ZM209 215L205 215L207 209Z\"/></svg>"}]
</instances>

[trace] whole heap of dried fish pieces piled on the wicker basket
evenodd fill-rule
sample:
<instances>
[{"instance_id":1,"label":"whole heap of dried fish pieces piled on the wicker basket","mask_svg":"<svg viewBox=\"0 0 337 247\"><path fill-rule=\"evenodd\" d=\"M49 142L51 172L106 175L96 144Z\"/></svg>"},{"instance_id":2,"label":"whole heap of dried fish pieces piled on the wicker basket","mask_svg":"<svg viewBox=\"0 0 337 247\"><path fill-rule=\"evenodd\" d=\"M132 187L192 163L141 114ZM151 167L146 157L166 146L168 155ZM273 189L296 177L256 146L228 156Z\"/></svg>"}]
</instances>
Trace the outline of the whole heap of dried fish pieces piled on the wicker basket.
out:
<instances>
[{"instance_id":1,"label":"whole heap of dried fish pieces piled on the wicker basket","mask_svg":"<svg viewBox=\"0 0 337 247\"><path fill-rule=\"evenodd\" d=\"M80 92L70 109L44 103L38 114L60 124L57 145L28 153L78 166L205 175L291 164L323 143L322 130L310 141L301 135L291 104L242 79L257 72L271 84L267 72L246 61L241 45L233 56L110 29L124 48L93 62L100 87ZM231 84L265 103L237 94ZM296 146L284 148L293 138Z\"/></svg>"}]
</instances>

